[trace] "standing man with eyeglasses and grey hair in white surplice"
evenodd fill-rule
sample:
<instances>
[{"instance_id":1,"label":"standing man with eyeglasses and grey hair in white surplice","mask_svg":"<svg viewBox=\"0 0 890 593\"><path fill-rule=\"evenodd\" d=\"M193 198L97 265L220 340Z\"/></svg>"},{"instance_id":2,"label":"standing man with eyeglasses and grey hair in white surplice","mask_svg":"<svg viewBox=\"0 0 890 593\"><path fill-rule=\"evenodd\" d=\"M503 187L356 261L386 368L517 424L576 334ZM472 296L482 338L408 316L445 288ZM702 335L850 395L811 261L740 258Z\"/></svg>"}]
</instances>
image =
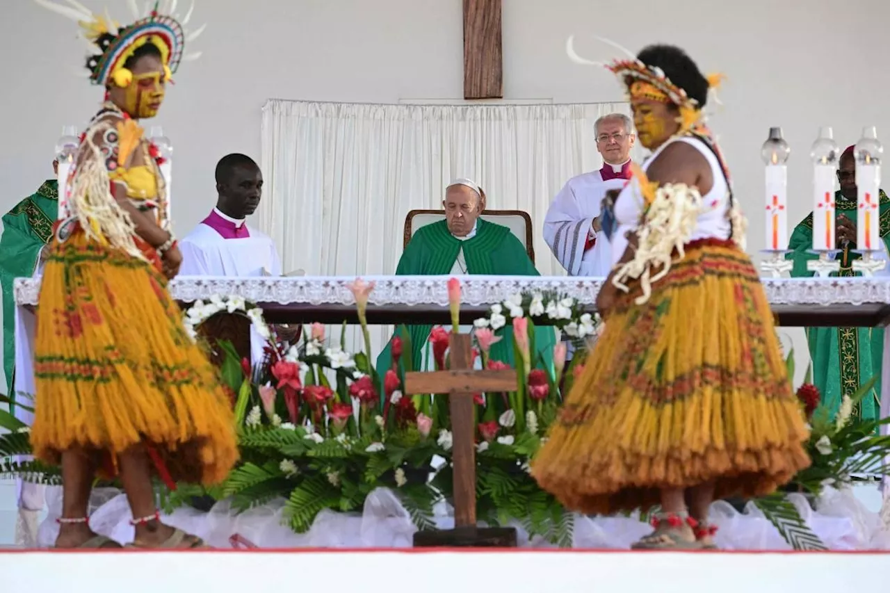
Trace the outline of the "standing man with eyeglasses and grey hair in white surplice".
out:
<instances>
[{"instance_id":1,"label":"standing man with eyeglasses and grey hair in white surplice","mask_svg":"<svg viewBox=\"0 0 890 593\"><path fill-rule=\"evenodd\" d=\"M611 245L601 232L600 207L607 191L620 190L630 179L635 140L630 118L611 113L597 119L594 130L603 167L572 177L544 219L544 240L570 276L609 275Z\"/></svg>"}]
</instances>

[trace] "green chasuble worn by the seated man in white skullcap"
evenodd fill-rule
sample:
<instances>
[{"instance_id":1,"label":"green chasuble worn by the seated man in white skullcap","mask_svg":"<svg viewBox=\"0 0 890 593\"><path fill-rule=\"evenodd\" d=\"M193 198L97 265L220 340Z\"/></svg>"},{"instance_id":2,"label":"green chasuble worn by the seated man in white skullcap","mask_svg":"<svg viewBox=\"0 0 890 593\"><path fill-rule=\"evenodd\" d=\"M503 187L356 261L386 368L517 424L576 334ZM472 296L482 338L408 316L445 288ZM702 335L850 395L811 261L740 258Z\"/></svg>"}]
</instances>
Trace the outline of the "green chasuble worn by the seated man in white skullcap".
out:
<instances>
[{"instance_id":1,"label":"green chasuble worn by the seated man in white skullcap","mask_svg":"<svg viewBox=\"0 0 890 593\"><path fill-rule=\"evenodd\" d=\"M538 276L538 270L529 254L506 226L489 223L481 218L476 221L476 235L472 239L457 240L442 220L418 229L401 255L396 275L441 276L451 273L457 254L464 248L467 273L498 276ZM420 368L422 353L430 336L432 325L409 326L412 360ZM399 329L396 328L398 333ZM498 332L503 339L491 346L492 361L502 361L513 366L513 329ZM550 328L537 329L535 350L543 357L546 366L553 361L554 333ZM535 354L532 354L535 357ZM383 377L392 360L390 346L377 357L377 371Z\"/></svg>"}]
</instances>

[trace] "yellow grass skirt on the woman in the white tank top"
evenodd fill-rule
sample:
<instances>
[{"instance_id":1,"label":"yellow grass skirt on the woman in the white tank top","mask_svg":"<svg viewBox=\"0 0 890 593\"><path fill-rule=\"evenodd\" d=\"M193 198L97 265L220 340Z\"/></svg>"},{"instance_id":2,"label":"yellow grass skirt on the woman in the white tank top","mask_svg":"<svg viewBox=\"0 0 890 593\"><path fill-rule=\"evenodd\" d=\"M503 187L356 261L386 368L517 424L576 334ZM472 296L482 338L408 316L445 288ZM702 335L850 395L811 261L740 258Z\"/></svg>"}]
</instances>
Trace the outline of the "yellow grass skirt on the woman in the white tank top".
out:
<instances>
[{"instance_id":1,"label":"yellow grass skirt on the woman in the white tank top","mask_svg":"<svg viewBox=\"0 0 890 593\"><path fill-rule=\"evenodd\" d=\"M541 487L611 514L709 482L717 498L758 496L807 467L804 414L748 256L695 242L648 302L630 288L534 459Z\"/></svg>"}]
</instances>

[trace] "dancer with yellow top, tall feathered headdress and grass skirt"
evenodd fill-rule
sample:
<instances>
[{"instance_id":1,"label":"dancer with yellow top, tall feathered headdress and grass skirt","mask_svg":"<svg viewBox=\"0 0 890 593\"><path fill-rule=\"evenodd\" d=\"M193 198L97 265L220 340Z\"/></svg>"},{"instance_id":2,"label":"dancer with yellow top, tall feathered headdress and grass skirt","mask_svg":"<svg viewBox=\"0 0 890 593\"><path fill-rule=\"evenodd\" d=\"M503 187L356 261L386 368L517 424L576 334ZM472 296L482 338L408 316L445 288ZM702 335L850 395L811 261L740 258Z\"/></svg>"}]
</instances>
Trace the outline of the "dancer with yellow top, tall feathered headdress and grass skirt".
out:
<instances>
[{"instance_id":1,"label":"dancer with yellow top, tall feathered headdress and grass skirt","mask_svg":"<svg viewBox=\"0 0 890 593\"><path fill-rule=\"evenodd\" d=\"M119 548L86 516L96 475L124 486L140 548L198 548L161 524L153 475L219 483L238 458L231 404L166 290L182 262L169 230L153 117L182 58L180 24L156 10L128 27L69 5L106 102L81 137L36 312L38 459L61 463L58 548ZM72 4L73 5L73 4Z\"/></svg>"}]
</instances>

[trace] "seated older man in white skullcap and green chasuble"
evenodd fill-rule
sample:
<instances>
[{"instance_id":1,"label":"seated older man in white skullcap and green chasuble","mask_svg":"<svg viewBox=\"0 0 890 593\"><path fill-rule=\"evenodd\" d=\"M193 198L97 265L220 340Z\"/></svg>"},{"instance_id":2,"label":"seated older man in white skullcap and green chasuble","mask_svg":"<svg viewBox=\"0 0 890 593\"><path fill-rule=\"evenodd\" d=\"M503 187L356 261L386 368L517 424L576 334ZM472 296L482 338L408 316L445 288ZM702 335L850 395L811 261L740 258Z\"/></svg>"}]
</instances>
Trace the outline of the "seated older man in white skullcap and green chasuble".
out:
<instances>
[{"instance_id":1,"label":"seated older man in white skullcap and green chasuble","mask_svg":"<svg viewBox=\"0 0 890 593\"><path fill-rule=\"evenodd\" d=\"M526 248L510 229L497 223L482 220L485 193L477 183L458 179L449 184L442 200L445 220L427 224L409 241L396 267L396 275L499 275L538 276ZM432 357L426 356L426 344L432 325L409 326L412 361L424 361L417 370L430 370ZM472 328L461 328L461 332ZM396 328L396 334L399 329ZM513 333L503 330L504 339L491 346L491 360L513 366ZM536 334L536 350L544 360L552 360L554 335L549 331ZM390 346L377 357L377 369L390 366ZM430 361L429 364L426 361Z\"/></svg>"}]
</instances>

